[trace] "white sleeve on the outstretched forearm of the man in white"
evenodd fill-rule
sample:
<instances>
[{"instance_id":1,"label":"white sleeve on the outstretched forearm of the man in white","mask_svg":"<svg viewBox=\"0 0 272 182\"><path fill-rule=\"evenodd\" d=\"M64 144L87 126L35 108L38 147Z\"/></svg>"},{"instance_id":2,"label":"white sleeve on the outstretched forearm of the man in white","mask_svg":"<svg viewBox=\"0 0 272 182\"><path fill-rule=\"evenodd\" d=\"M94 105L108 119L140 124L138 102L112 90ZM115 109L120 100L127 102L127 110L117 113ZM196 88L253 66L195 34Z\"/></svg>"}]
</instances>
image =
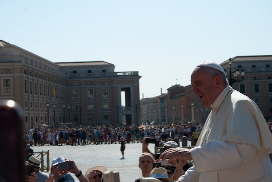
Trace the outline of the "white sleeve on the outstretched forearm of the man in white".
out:
<instances>
[{"instance_id":1,"label":"white sleeve on the outstretched forearm of the man in white","mask_svg":"<svg viewBox=\"0 0 272 182\"><path fill-rule=\"evenodd\" d=\"M197 172L220 171L238 167L250 160L257 151L252 145L224 141L209 142L190 150Z\"/></svg>"}]
</instances>

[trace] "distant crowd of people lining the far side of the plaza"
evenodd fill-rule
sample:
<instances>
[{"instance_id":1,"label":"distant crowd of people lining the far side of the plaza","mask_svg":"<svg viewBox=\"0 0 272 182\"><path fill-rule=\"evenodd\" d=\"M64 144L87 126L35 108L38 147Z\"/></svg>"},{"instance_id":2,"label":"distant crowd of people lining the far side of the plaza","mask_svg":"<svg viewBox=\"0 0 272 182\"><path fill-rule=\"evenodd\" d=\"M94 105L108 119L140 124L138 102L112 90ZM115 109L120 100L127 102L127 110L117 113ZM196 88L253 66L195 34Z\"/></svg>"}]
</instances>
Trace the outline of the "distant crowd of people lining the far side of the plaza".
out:
<instances>
[{"instance_id":1,"label":"distant crowd of people lining the far side of the plaza","mask_svg":"<svg viewBox=\"0 0 272 182\"><path fill-rule=\"evenodd\" d=\"M26 143L32 145L87 145L87 144L116 144L121 137L126 143L143 142L145 137L167 141L169 138L186 136L188 140L196 132L198 138L203 125L166 125L166 126L140 126L117 127L106 125L83 128L50 129L40 127L24 129Z\"/></svg>"}]
</instances>

